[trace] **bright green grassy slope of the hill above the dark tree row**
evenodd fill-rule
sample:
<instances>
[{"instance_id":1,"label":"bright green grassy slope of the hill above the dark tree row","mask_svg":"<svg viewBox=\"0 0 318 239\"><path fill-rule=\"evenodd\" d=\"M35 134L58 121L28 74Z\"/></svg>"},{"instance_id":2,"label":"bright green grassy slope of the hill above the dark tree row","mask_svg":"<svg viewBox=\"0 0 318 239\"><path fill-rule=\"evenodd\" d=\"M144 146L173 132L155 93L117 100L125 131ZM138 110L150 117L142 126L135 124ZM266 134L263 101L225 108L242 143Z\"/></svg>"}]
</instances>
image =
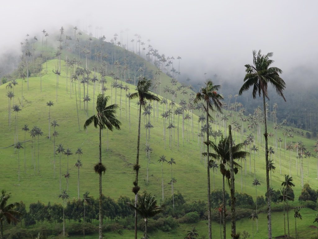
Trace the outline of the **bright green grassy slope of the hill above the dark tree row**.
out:
<instances>
[{"instance_id":1,"label":"bright green grassy slope of the hill above the dark tree row","mask_svg":"<svg viewBox=\"0 0 318 239\"><path fill-rule=\"evenodd\" d=\"M2 182L1 188L12 192L13 200L23 200L27 205L31 202L40 200L44 203L48 201L59 202L57 195L59 194L59 157L56 156L56 175L53 176L53 140L48 140L48 107L46 102L52 100L55 105L51 107L51 121L53 119L58 120L59 127L57 131L59 136L56 139L56 144L62 143L64 148L70 148L73 153L77 147L83 149L84 155L82 156L83 168L80 169L80 195L85 191L89 191L91 195L97 197L98 195L98 177L93 173L93 165L98 160L98 130L94 129L93 126L89 127L86 132L82 129L82 126L86 120L86 114L83 110L80 114L80 126L81 130L78 131L77 119L76 119L76 105L75 95L70 98L69 94L66 94L66 74L62 69L62 74L59 80L59 98L58 102L55 101L55 81L56 76L50 69L55 69L56 61L48 62L47 75L42 77L42 92L39 91L39 77L29 78L29 91L26 90L26 83L24 83L24 107L21 112L18 113L18 133L19 141L24 140L24 132L21 128L24 124L28 124L29 128L37 125L42 128L44 136L40 137L40 173L34 172L31 164L31 141L26 143L26 165L27 172L23 172L23 158L24 152L20 151L20 169L21 169L21 181L17 181L17 152L14 153L13 147L1 149L0 164L2 165L0 174L0 180ZM163 75L163 82L168 81L169 77ZM107 87L110 89L110 79L107 79ZM18 85L15 89L15 102L17 98L21 99L21 83L22 80L18 79ZM164 84L163 84L164 85ZM0 100L3 102L0 106L0 134L2 135L0 142L2 147L7 147L14 142L14 113L11 114L11 127L8 127L8 98L6 97L7 90L5 89L6 84L0 86ZM134 89L133 86L130 87ZM82 89L82 86L81 86ZM90 85L90 97L92 96L92 85ZM117 100L119 102L119 90L117 90ZM69 93L69 92L68 92ZM110 95L110 90L106 92ZM113 89L114 94L114 89ZM117 103L118 103L117 102ZM129 133L128 120L125 117L125 100L122 101L121 121L123 123L120 131L109 132L109 151L106 150L106 131L104 131L104 137L102 139L102 155L103 162L107 166L107 172L103 177L103 192L106 196L110 196L117 199L120 195L128 195L131 198L133 193L131 192L132 181L134 180L134 172L132 170L132 164L135 162L135 142L137 133L137 106L136 101L131 102L131 133ZM13 105L13 103L11 103ZM93 114L93 102L89 104L89 115ZM83 107L83 104L82 104ZM83 109L83 108L82 108ZM162 112L162 105L159 105L159 114ZM118 112L119 117L119 112ZM128 116L127 116L128 119ZM142 120L143 122L143 120ZM194 122L197 122L197 117L194 117ZM153 148L151 154L151 164L149 165L149 184L145 185L143 179L146 178L146 158L145 153L142 151L145 145L145 131L142 127L141 137L141 165L142 169L140 172L141 191L148 190L153 194L161 197L161 164L157 163L159 156L162 154L167 156L169 159L173 157L176 160L176 165L173 165L174 177L176 177L177 184L175 185L175 191L180 191L186 200L205 200L206 195L206 180L205 180L205 168L204 164L200 163L199 148L197 145L197 138L194 137L194 141L185 143L185 147L180 146L179 152L176 150L176 146L173 146L172 150L169 149L168 141L168 130L166 131L167 147L164 149L164 141L162 139L162 119L159 118L158 122L153 122L151 117L151 123L155 126L151 130L151 141L150 146ZM181 120L180 120L181 128ZM194 130L196 134L197 125L195 123ZM270 130L269 130L270 131ZM53 130L51 128L51 134ZM283 138L283 137L282 137ZM27 134L27 140L31 139ZM287 139L288 140L288 139ZM313 145L313 141L302 139L308 148ZM180 131L180 142L181 142L181 131ZM295 138L294 138L295 141ZM271 142L271 140L270 140ZM282 144L283 145L283 144ZM312 148L311 148L312 149ZM278 153L278 152L277 152ZM276 160L278 160L278 155ZM279 174L279 166L276 161L276 171L272 174L273 187L279 188L280 183L283 180L283 175L289 173L288 160L289 152L286 153L286 159L284 158L284 150L282 150L282 164L283 170L282 175ZM70 174L69 179L69 195L70 199L77 197L77 170L73 167L76 162L77 156L72 155L69 157ZM298 197L300 187L300 177L296 177L295 172L295 153L293 156L293 170L292 176L295 182L295 195ZM249 159L247 159L247 166L249 167ZM252 155L253 165L253 155ZM306 165L306 164L305 164ZM315 158L310 158L310 177L305 177L305 182L309 182L312 188L317 185L316 175L316 161ZM66 173L66 156L62 156L62 174ZM260 179L261 186L258 187L258 195L264 194L265 192L265 166L264 166L264 152L260 147L259 156L256 155L256 168L257 177ZM253 167L252 167L253 171ZM249 170L247 170L249 172ZM307 175L307 169L304 168L305 176ZM186 175L186 177L184 177ZM240 175L237 179L237 189L240 191ZM170 167L164 165L164 182L165 184L170 178ZM216 188L221 188L221 180L219 174L215 175ZM246 192L253 195L255 188L252 187L251 182L254 178L253 174L247 174L246 177ZM62 185L65 188L65 179L62 178ZM213 183L212 183L213 185ZM166 185L165 195L170 195L170 187ZM295 202L297 204L297 200ZM311 219L310 219L311 220ZM275 224L273 224L275 225ZM276 225L274 226L274 228Z\"/></svg>"}]
</instances>

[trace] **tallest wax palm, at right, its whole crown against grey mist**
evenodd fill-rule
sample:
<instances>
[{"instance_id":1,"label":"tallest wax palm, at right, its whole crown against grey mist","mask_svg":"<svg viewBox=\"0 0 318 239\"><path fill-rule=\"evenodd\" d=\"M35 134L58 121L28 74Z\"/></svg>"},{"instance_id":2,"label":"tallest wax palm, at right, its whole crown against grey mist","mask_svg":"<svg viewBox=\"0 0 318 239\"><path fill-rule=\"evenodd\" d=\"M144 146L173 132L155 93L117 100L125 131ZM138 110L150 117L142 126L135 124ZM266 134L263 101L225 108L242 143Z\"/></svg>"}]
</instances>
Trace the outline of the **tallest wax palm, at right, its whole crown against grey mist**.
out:
<instances>
[{"instance_id":1,"label":"tallest wax palm, at right, its whole crown against grey mist","mask_svg":"<svg viewBox=\"0 0 318 239\"><path fill-rule=\"evenodd\" d=\"M252 96L256 98L256 94L259 94L259 97L263 96L263 110L264 110L264 136L265 136L265 161L266 161L266 187L267 187L267 208L268 208L268 216L267 216L267 229L268 229L268 239L272 239L272 220L271 220L271 197L269 194L270 186L269 186L269 168L268 168L268 134L267 134L267 119L266 119L266 105L265 98L268 98L267 94L267 85L270 83L277 94L281 96L285 101L285 97L283 95L283 90L286 87L284 80L279 76L282 73L282 70L277 67L270 67L270 65L274 62L269 58L273 56L273 53L267 53L266 55L262 55L259 50L256 53L253 50L253 65L247 64L245 65L246 75L244 77L244 84L239 90L239 95L242 95L243 91L247 91L250 87L253 86Z\"/></svg>"}]
</instances>

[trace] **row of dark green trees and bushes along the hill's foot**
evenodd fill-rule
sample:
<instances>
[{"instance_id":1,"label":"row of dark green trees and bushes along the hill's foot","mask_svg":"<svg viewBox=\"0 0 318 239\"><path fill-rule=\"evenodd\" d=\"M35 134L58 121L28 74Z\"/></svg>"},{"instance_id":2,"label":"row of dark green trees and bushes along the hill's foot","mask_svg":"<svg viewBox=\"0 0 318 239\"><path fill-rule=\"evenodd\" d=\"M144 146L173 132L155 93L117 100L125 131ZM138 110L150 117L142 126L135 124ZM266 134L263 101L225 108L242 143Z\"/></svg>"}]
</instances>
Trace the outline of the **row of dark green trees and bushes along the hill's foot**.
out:
<instances>
[{"instance_id":1,"label":"row of dark green trees and bushes along the hill's foot","mask_svg":"<svg viewBox=\"0 0 318 239\"><path fill-rule=\"evenodd\" d=\"M288 202L294 200L294 192L291 188L293 186L292 178L286 176L285 181L282 182L283 189L271 192L272 202L274 203L274 210L283 210L284 214L284 229L285 235L286 229L288 229L288 236L290 235L289 229L289 220L293 215L288 216L288 212L290 207L288 207ZM64 197L68 197L68 195L63 192L61 195ZM146 194L147 195L147 194ZM211 218L215 223L220 224L220 229L222 226L221 218L222 218L222 209L224 205L231 206L231 200L229 194L225 191L225 202L223 199L223 191L215 190L211 192L211 204L212 208L216 209L212 211ZM315 208L315 202L317 200L318 192L312 190L310 186L305 185L302 190L301 195L299 196L300 201L306 200L305 206ZM195 223L199 220L206 220L207 217L207 204L203 201L186 203L183 196L178 192L174 194L176 197L176 207L174 206L173 197L167 198L164 201L164 211L160 212L160 214L155 215L154 220L150 222L149 230L153 231L156 228L160 228L162 231L169 231L172 228L176 228L178 223ZM309 196L309 197L308 197ZM6 194L5 191L2 192L3 201L5 199L10 198L10 194ZM252 219L252 225L254 224L254 220L257 221L258 213L254 210L255 204L259 206L259 212L266 211L266 202L264 200L263 195L257 197L257 201L253 201L252 196L246 193L235 193L236 197L236 205L237 205L237 213L236 217L238 219L243 217L249 217ZM60 198L63 199L61 196ZM6 218L11 216L11 220L13 222L17 222L19 220L22 225L22 221L26 227L32 225L41 225L45 222L45 225L49 223L56 225L56 223L64 223L66 220L78 222L78 224L69 223L67 225L67 232L69 235L83 234L85 233L92 234L97 231L97 228L93 225L94 221L99 219L99 202L95 200L93 197L89 196L89 192L83 194L83 199L73 199L69 200L66 204L66 207L61 204L54 203L51 205L49 202L47 205L41 202L31 203L29 205L29 212L26 211L26 206L21 201L20 203L7 204L7 200L2 205L3 217ZM266 195L265 195L266 199ZM283 205L279 204L279 202L283 202ZM133 217L133 208L129 206L130 203L133 203L127 196L121 196L117 201L109 197L102 196L102 207L103 207L103 220L108 220L107 224L103 225L102 231L107 232L109 230L118 231L118 233L122 233L123 228L133 227L132 217ZM64 204L64 199L63 199ZM286 204L286 206L285 206ZM8 209L8 206L15 205L15 210ZM64 208L65 207L65 208ZM287 212L287 219L285 217L285 209ZM171 217L171 215L173 217ZM147 216L150 216L148 214ZM300 208L294 208L294 218L295 222L297 219L302 219L300 214ZM316 216L317 218L317 216ZM226 215L226 221L231 219L231 214ZM286 223L287 221L287 223ZM316 219L315 219L316 221ZM82 226L79 227L80 223ZM7 222L4 221L4 225ZM287 225L286 225L287 224ZM64 224L63 224L64 225ZM141 219L138 222L138 228L142 229L145 226L145 221ZM82 229L79 229L82 228ZM253 228L253 227L252 227ZM258 232L258 227L257 227ZM10 232L11 236L14 236L16 232ZM48 236L49 232L41 232L42 236ZM60 229L55 231L54 233L60 233ZM254 235L254 230L252 230L252 236ZM295 235L297 237L297 223L295 224ZM222 232L220 233L222 237Z\"/></svg>"}]
</instances>

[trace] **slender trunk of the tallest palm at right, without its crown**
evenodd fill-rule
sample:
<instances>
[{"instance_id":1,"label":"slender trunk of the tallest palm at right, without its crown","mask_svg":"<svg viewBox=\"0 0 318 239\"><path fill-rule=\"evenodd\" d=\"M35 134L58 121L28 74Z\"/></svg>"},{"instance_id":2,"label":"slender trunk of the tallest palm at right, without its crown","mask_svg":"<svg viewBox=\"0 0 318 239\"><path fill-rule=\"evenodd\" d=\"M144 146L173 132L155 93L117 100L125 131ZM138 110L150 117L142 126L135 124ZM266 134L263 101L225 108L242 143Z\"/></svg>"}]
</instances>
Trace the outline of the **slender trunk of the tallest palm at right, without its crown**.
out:
<instances>
[{"instance_id":1,"label":"slender trunk of the tallest palm at right, without its crown","mask_svg":"<svg viewBox=\"0 0 318 239\"><path fill-rule=\"evenodd\" d=\"M263 107L264 107L264 136L265 136L265 161L266 161L266 192L267 192L267 228L268 239L272 239L272 213L271 213L271 194L269 187L269 167L268 167L268 134L267 134L267 120L266 120L266 105L265 105L265 92L263 90Z\"/></svg>"}]
</instances>

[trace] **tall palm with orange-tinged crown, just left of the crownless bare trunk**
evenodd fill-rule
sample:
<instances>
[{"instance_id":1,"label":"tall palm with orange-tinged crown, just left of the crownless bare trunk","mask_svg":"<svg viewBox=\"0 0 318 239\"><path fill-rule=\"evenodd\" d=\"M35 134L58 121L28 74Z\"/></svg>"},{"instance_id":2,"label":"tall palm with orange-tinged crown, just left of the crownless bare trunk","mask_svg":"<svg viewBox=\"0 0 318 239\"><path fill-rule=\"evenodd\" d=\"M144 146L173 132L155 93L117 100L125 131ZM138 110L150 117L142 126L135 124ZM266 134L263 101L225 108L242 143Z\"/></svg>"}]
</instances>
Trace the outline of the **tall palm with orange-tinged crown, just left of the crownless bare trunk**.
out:
<instances>
[{"instance_id":1,"label":"tall palm with orange-tinged crown, just left of the crownless bare trunk","mask_svg":"<svg viewBox=\"0 0 318 239\"><path fill-rule=\"evenodd\" d=\"M181 57L180 57L181 59ZM179 60L180 60L179 59ZM180 62L180 61L179 61ZM222 112L222 103L220 100L223 99L221 95L217 93L218 89L220 88L220 85L213 85L212 81L206 81L205 87L202 87L200 91L197 93L196 98L194 99L194 103L198 104L200 101L204 101L204 111L206 112L206 123L208 124L209 118L211 118L211 115L209 113L209 109L214 112L216 108L217 111ZM209 228L209 239L212 238L211 235L211 190L210 190L210 163L209 163L209 147L212 142L209 139L209 128L207 128L206 132L206 145L207 145L207 181L208 181L208 228Z\"/></svg>"}]
</instances>

